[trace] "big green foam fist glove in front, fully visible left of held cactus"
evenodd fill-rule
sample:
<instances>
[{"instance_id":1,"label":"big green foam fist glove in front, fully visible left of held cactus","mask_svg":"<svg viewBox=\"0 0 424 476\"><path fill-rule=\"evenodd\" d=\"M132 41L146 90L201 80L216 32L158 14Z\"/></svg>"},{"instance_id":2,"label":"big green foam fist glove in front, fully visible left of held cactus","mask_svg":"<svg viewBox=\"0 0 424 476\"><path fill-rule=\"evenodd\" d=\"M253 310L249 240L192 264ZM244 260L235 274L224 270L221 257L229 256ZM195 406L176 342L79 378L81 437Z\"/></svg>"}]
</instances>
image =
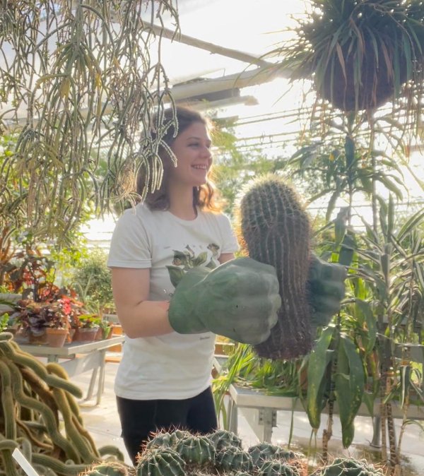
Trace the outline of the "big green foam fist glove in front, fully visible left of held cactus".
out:
<instances>
[{"instance_id":1,"label":"big green foam fist glove in front, fully visible left of held cactus","mask_svg":"<svg viewBox=\"0 0 424 476\"><path fill-rule=\"evenodd\" d=\"M269 337L280 307L273 266L236 258L213 270L187 271L175 288L168 316L177 333L211 331L255 345Z\"/></svg>"}]
</instances>

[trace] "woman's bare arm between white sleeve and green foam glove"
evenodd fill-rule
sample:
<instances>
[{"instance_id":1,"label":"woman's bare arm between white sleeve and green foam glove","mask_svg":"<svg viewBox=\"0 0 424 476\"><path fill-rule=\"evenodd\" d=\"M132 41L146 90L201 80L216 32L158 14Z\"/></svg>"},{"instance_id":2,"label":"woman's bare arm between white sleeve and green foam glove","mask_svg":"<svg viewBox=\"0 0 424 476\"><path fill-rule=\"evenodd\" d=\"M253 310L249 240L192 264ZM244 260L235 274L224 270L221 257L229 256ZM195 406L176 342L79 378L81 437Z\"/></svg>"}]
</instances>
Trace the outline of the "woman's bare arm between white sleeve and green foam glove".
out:
<instances>
[{"instance_id":1,"label":"woman's bare arm between white sleeve and green foam glove","mask_svg":"<svg viewBox=\"0 0 424 476\"><path fill-rule=\"evenodd\" d=\"M173 331L167 316L170 303L148 301L150 269L112 268L112 290L119 322L129 338Z\"/></svg>"}]
</instances>

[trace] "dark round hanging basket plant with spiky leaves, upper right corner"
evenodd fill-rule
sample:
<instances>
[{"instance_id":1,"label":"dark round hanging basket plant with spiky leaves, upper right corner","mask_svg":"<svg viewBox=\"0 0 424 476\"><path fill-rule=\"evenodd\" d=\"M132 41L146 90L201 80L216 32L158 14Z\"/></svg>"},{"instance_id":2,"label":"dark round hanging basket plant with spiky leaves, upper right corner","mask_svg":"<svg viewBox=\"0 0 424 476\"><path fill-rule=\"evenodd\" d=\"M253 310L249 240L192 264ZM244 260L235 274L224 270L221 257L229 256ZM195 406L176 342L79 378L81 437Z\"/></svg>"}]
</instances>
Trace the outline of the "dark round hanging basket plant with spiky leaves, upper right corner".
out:
<instances>
[{"instance_id":1,"label":"dark round hanging basket plant with spiky leaves, upper right corner","mask_svg":"<svg viewBox=\"0 0 424 476\"><path fill-rule=\"evenodd\" d=\"M419 0L311 0L295 39L278 49L290 77L310 79L343 111L375 109L423 80Z\"/></svg>"}]
</instances>

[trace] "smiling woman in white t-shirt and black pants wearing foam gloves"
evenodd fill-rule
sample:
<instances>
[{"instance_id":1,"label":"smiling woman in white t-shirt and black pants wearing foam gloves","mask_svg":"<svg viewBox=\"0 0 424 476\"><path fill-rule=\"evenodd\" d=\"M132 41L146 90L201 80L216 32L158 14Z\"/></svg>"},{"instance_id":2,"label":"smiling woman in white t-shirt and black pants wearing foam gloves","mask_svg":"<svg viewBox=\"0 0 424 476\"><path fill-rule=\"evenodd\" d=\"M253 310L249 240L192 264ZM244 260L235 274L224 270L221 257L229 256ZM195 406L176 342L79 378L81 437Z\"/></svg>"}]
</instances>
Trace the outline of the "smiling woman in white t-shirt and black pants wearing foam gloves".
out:
<instances>
[{"instance_id":1,"label":"smiling woman in white t-shirt and black pants wearing foam gloves","mask_svg":"<svg viewBox=\"0 0 424 476\"><path fill-rule=\"evenodd\" d=\"M177 108L176 115L177 136L170 126L163 140L177 164L166 148L160 148L162 186L119 218L108 261L117 314L127 337L114 391L122 436L134 463L143 441L158 429L181 427L201 434L216 429L211 393L215 334L210 331L258 343L269 336L281 303L271 266L245 258L239 273L239 261L232 261L237 239L208 181L213 162L210 124L191 109ZM165 111L165 124L172 116L172 109ZM139 174L139 193L145 182L145 174ZM237 287L245 289L252 287L249 273L260 270L266 276L263 287L254 290L260 299L246 305L246 296L241 296L240 306L226 312L227 303L234 302L233 291L228 289L227 296L223 290L218 297L224 307L220 316L208 314L205 306L204 313L199 312L203 302L174 304L179 282L178 290L188 289L184 302L196 300L201 293L192 292L192 285L223 263L228 264L219 268L218 278L225 279L236 268L241 275ZM200 286L203 292L203 282Z\"/></svg>"}]
</instances>

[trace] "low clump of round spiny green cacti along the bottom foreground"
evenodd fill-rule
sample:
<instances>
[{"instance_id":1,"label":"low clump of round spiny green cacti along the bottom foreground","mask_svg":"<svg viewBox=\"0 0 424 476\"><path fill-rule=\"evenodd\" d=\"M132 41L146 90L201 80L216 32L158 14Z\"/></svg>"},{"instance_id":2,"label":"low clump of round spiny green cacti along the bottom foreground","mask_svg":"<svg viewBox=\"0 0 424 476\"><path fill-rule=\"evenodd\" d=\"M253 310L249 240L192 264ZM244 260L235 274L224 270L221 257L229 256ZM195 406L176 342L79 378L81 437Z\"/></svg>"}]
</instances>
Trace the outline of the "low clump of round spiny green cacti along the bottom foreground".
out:
<instances>
[{"instance_id":1,"label":"low clump of round spiny green cacti along the bottom foreground","mask_svg":"<svg viewBox=\"0 0 424 476\"><path fill-rule=\"evenodd\" d=\"M110 465L110 466L109 466ZM110 468L110 472L107 472ZM142 448L136 468L117 463L95 465L80 476L383 476L363 460L336 458L308 472L307 458L280 445L243 448L225 430L194 435L182 430L158 432Z\"/></svg>"}]
</instances>

